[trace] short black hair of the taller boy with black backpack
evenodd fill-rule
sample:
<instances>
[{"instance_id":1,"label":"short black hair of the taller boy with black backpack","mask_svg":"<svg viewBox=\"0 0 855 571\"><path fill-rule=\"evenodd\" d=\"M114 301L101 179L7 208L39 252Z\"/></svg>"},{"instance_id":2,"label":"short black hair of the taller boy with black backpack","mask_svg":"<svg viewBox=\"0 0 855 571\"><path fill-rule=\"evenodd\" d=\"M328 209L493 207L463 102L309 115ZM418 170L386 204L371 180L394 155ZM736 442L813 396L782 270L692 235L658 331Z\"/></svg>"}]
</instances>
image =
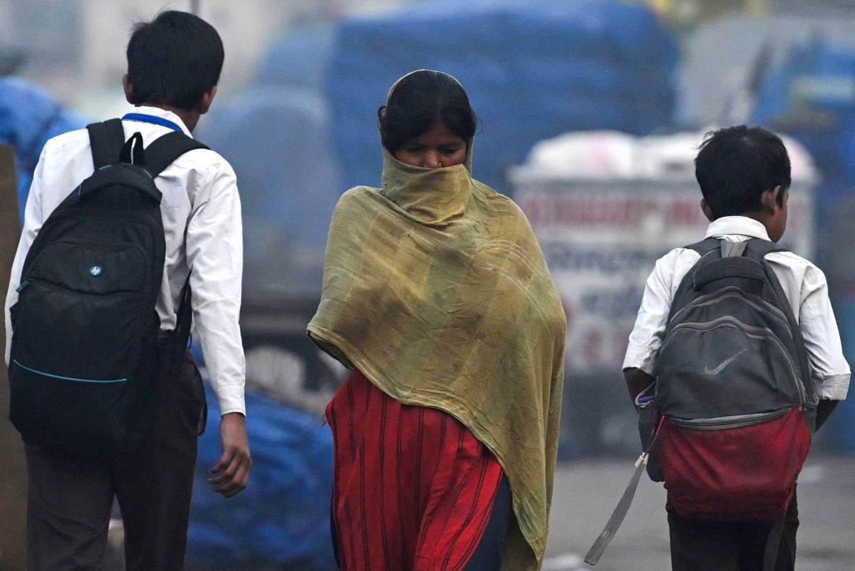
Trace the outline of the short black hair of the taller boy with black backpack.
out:
<instances>
[{"instance_id":1,"label":"short black hair of the taller boy with black backpack","mask_svg":"<svg viewBox=\"0 0 855 571\"><path fill-rule=\"evenodd\" d=\"M133 26L127 75L137 103L191 110L220 80L220 34L187 12L168 10Z\"/></svg>"}]
</instances>

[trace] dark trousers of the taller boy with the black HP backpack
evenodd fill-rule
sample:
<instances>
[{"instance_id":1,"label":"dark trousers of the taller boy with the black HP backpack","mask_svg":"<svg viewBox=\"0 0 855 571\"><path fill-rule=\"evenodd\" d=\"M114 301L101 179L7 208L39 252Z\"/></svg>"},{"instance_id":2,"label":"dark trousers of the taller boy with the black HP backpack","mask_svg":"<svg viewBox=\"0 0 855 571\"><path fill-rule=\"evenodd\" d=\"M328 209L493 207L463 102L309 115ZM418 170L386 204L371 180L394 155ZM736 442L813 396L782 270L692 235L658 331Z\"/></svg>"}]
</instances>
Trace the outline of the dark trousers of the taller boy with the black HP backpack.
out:
<instances>
[{"instance_id":1,"label":"dark trousers of the taller boy with the black HP backpack","mask_svg":"<svg viewBox=\"0 0 855 571\"><path fill-rule=\"evenodd\" d=\"M107 547L114 497L125 528L127 571L184 568L204 389L186 352L162 374L150 439L110 462L79 462L35 446L27 454L27 568L95 570Z\"/></svg>"}]
</instances>

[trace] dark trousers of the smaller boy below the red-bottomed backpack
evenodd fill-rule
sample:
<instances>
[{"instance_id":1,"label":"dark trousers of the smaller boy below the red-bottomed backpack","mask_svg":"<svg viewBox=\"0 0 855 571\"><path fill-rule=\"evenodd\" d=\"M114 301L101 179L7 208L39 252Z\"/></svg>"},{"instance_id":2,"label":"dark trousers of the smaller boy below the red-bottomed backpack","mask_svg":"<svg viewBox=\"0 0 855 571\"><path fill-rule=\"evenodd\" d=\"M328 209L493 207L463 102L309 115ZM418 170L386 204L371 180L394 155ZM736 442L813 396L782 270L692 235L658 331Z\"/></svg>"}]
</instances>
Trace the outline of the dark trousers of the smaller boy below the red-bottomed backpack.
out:
<instances>
[{"instance_id":1,"label":"dark trousers of the smaller boy below the red-bottomed backpack","mask_svg":"<svg viewBox=\"0 0 855 571\"><path fill-rule=\"evenodd\" d=\"M683 517L666 505L673 571L762 571L771 523L700 521ZM784 516L775 571L793 571L799 503L793 500Z\"/></svg>"}]
</instances>

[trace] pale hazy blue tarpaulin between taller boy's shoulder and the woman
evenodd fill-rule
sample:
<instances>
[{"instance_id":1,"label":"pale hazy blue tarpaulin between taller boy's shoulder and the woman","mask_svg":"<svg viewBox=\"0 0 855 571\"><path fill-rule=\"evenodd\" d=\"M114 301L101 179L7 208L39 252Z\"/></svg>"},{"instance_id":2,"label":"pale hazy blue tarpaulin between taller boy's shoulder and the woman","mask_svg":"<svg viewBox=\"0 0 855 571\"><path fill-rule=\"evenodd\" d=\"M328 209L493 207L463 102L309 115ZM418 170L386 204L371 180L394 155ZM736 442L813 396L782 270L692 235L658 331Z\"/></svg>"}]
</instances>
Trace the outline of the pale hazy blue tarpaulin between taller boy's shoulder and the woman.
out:
<instances>
[{"instance_id":1,"label":"pale hazy blue tarpaulin between taller boy's shoulder and the woman","mask_svg":"<svg viewBox=\"0 0 855 571\"><path fill-rule=\"evenodd\" d=\"M321 290L329 221L343 192L321 93L253 86L215 105L198 138L232 164L247 291Z\"/></svg>"}]
</instances>

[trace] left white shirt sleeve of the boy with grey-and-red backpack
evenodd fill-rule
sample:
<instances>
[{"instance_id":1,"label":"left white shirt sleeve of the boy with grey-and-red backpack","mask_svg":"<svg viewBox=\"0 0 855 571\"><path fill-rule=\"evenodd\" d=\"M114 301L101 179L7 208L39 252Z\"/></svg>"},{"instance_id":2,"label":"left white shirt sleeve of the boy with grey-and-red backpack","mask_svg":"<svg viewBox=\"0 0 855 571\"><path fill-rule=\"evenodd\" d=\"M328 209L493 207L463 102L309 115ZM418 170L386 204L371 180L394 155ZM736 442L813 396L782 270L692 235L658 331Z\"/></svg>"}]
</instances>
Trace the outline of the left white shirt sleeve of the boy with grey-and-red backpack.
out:
<instances>
[{"instance_id":1,"label":"left white shirt sleeve of the boy with grey-and-red backpack","mask_svg":"<svg viewBox=\"0 0 855 571\"><path fill-rule=\"evenodd\" d=\"M675 265L681 250L671 250L659 258L647 278L639 313L633 331L629 334L627 354L623 359L624 369L640 368L656 377L657 356L674 297Z\"/></svg>"}]
</instances>

